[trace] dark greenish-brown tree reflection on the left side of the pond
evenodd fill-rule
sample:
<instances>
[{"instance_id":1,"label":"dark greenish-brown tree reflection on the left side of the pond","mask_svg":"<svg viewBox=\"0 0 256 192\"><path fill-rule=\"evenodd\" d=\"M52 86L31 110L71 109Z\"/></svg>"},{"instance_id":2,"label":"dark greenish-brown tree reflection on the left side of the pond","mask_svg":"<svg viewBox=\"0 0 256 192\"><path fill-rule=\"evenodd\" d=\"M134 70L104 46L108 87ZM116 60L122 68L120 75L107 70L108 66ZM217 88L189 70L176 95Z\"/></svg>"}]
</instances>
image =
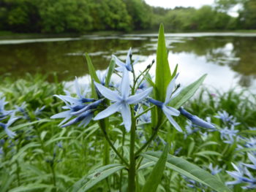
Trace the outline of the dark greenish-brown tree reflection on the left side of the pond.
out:
<instances>
[{"instance_id":1,"label":"dark greenish-brown tree reflection on the left side of the pond","mask_svg":"<svg viewBox=\"0 0 256 192\"><path fill-rule=\"evenodd\" d=\"M91 60L96 69L106 69L111 54L129 47L142 47L145 40L129 39L84 39L67 42L35 42L0 46L0 74L10 73L13 77L56 72L59 80L73 80L88 73L83 53L92 53ZM100 52L99 52L100 51ZM97 54L98 53L98 54ZM126 54L124 53L124 55Z\"/></svg>"}]
</instances>

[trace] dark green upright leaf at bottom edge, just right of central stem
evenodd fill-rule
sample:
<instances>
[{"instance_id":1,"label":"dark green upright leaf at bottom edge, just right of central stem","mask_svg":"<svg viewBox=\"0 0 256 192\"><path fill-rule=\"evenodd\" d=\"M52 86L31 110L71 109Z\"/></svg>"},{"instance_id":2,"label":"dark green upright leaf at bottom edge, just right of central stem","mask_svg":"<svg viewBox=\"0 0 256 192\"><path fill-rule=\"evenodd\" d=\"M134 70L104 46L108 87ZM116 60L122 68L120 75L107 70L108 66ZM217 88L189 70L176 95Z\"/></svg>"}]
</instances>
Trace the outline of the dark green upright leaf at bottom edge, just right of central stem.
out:
<instances>
[{"instance_id":1,"label":"dark green upright leaf at bottom edge, just right of central stem","mask_svg":"<svg viewBox=\"0 0 256 192\"><path fill-rule=\"evenodd\" d=\"M166 145L162 155L157 161L157 164L154 166L153 171L146 180L145 185L143 186L142 192L155 192L157 191L157 186L161 182L162 174L165 170L165 163L167 160L169 146Z\"/></svg>"}]
</instances>

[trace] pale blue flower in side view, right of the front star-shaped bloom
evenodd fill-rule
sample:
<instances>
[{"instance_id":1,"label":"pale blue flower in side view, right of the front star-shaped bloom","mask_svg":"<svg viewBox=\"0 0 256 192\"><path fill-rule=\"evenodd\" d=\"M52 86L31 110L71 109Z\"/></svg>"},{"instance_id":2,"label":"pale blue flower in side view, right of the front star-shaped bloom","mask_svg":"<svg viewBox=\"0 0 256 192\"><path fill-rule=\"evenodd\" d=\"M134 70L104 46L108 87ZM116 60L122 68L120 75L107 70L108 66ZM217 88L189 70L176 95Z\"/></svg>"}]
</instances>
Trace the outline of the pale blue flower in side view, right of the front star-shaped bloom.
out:
<instances>
[{"instance_id":1,"label":"pale blue flower in side view, right of the front star-shaped bloom","mask_svg":"<svg viewBox=\"0 0 256 192\"><path fill-rule=\"evenodd\" d=\"M167 117L167 119L170 121L170 123L172 123L172 125L178 131L182 131L181 127L178 126L178 123L176 123L176 121L172 118L172 115L178 116L180 114L180 112L173 107L167 106L167 104L169 104L169 102L174 97L176 97L178 95L179 91L181 91L181 89L179 89L173 93L173 88L175 86L175 81L176 81L177 77L178 77L178 74L176 75L176 77L173 78L173 80L170 81L169 85L167 86L165 102L157 101L157 100L151 99L151 98L149 98L148 101L151 102L152 104L156 105L157 107L161 108L162 111L165 113L165 116Z\"/></svg>"}]
</instances>

